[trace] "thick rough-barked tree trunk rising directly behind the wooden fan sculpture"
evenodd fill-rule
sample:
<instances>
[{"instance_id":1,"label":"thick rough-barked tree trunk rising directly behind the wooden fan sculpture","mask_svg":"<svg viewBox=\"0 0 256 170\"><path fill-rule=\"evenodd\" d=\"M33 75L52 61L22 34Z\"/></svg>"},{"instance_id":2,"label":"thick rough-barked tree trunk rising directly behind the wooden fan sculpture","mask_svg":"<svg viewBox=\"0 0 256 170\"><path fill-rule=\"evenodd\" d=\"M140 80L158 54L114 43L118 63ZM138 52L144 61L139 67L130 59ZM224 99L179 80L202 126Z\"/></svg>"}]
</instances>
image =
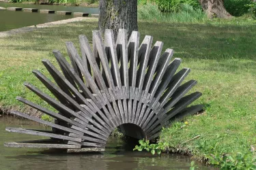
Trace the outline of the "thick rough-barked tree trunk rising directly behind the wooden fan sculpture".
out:
<instances>
[{"instance_id":1,"label":"thick rough-barked tree trunk rising directly behind the wooden fan sculpture","mask_svg":"<svg viewBox=\"0 0 256 170\"><path fill-rule=\"evenodd\" d=\"M113 29L115 39L118 29L126 29L128 36L138 30L137 0L100 0L99 29Z\"/></svg>"}]
</instances>

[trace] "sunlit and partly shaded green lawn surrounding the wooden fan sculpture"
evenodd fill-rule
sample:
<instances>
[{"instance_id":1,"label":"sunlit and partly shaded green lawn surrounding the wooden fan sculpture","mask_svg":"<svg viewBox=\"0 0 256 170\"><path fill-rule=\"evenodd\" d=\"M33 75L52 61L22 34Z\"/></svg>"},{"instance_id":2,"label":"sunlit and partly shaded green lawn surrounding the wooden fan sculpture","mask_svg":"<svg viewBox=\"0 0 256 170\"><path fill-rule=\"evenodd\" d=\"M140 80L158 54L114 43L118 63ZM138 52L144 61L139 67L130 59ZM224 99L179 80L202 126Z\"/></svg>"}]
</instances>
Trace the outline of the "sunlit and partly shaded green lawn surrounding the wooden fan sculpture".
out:
<instances>
[{"instance_id":1,"label":"sunlit and partly shaded green lawn surrounding the wooden fan sculpture","mask_svg":"<svg viewBox=\"0 0 256 170\"><path fill-rule=\"evenodd\" d=\"M31 71L46 73L42 58L56 64L53 49L66 54L66 41L79 48L78 35L91 40L97 24L96 20L76 22L0 39L1 108L24 109L16 96L45 106L23 82L46 91ZM224 153L249 152L256 145L256 25L140 21L139 31L141 40L152 35L154 41L164 42L164 49L175 50L174 57L182 58L182 67L191 69L186 81L197 80L193 91L203 93L195 103L203 103L205 111L187 118L188 124L175 133L165 130L160 140L170 141L174 148L193 150L198 156L210 146ZM198 139L181 144L197 135Z\"/></svg>"}]
</instances>

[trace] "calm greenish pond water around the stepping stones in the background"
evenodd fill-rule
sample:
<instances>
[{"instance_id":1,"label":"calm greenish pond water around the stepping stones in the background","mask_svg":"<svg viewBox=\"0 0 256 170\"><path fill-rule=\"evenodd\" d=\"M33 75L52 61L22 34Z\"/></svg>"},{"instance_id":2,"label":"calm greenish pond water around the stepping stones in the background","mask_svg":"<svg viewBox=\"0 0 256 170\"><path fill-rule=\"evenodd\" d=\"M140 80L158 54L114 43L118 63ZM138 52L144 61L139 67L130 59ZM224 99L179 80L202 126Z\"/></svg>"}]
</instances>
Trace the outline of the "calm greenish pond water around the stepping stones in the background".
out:
<instances>
[{"instance_id":1,"label":"calm greenish pond water around the stepping stones in the background","mask_svg":"<svg viewBox=\"0 0 256 170\"><path fill-rule=\"evenodd\" d=\"M65 5L35 5L23 3L2 3L0 7L23 7L23 8L37 8L42 10L55 11L70 11L70 12L85 12L89 14L98 14L97 7L81 7L81 6L65 6ZM40 12L23 12L23 11L8 11L0 10L0 31L8 31L10 29L18 29L20 27L27 27L35 24L43 24L45 22L53 22L57 20L65 20L72 18L72 15L59 14L42 14Z\"/></svg>"}]
</instances>

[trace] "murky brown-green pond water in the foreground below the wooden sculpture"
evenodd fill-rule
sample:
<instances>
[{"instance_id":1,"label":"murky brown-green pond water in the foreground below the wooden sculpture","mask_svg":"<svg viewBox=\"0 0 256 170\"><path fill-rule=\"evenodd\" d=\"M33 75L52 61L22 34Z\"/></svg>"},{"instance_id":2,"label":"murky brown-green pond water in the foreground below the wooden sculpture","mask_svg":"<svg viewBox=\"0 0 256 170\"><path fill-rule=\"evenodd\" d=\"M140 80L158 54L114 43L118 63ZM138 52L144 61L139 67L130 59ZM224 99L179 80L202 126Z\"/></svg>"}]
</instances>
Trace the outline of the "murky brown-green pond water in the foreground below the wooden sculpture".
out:
<instances>
[{"instance_id":1,"label":"murky brown-green pond water in the foreground below the wooden sculpture","mask_svg":"<svg viewBox=\"0 0 256 170\"><path fill-rule=\"evenodd\" d=\"M116 137L109 137L106 151L102 153L66 154L59 150L36 148L5 148L5 141L43 139L33 135L8 133L5 126L29 129L48 129L46 126L20 120L10 116L0 116L0 169L189 169L190 157L177 154L152 156L148 152L133 152L133 146ZM199 169L212 169L197 164Z\"/></svg>"}]
</instances>

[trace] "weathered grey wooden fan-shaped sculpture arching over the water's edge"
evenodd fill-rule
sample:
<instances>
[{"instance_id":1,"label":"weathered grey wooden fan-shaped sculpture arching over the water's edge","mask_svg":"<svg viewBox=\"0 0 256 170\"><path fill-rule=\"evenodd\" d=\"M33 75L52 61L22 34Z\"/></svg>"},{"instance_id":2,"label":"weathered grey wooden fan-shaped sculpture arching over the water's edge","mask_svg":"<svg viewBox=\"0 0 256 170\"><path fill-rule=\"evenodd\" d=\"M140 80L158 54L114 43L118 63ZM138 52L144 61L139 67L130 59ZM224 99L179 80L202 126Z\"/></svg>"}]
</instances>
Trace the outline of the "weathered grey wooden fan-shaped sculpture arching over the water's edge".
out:
<instances>
[{"instance_id":1,"label":"weathered grey wooden fan-shaped sculpture arching over the water's edge","mask_svg":"<svg viewBox=\"0 0 256 170\"><path fill-rule=\"evenodd\" d=\"M5 146L104 150L106 140L116 128L130 137L154 139L171 120L202 109L202 105L187 107L201 96L200 92L186 95L197 82L182 84L190 69L175 73L181 59L171 61L171 49L161 54L161 41L152 46L153 37L147 35L139 46L139 32L133 31L128 40L124 29L119 30L116 41L112 30L105 31L104 41L100 31L93 31L93 50L85 35L80 35L79 41L81 56L72 42L66 43L70 63L58 50L53 51L62 73L50 61L42 61L55 83L40 71L33 71L55 98L25 83L59 113L17 97L18 101L52 116L55 122L12 112L51 126L52 131L6 128L51 139L10 142Z\"/></svg>"}]
</instances>

